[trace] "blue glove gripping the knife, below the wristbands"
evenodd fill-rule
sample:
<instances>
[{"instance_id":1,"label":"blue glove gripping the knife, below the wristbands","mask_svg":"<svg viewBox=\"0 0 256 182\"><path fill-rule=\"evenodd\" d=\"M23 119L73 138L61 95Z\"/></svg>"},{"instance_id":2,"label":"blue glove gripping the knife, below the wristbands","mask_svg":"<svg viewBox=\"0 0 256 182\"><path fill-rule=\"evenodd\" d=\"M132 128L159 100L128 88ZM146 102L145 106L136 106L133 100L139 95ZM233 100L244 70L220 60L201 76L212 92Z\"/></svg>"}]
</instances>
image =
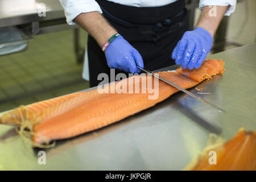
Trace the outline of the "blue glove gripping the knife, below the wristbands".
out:
<instances>
[{"instance_id":1,"label":"blue glove gripping the knife, below the wristbands","mask_svg":"<svg viewBox=\"0 0 256 182\"><path fill-rule=\"evenodd\" d=\"M109 44L105 55L109 68L117 68L127 73L139 73L141 70L136 65L144 67L142 56L121 35Z\"/></svg>"}]
</instances>

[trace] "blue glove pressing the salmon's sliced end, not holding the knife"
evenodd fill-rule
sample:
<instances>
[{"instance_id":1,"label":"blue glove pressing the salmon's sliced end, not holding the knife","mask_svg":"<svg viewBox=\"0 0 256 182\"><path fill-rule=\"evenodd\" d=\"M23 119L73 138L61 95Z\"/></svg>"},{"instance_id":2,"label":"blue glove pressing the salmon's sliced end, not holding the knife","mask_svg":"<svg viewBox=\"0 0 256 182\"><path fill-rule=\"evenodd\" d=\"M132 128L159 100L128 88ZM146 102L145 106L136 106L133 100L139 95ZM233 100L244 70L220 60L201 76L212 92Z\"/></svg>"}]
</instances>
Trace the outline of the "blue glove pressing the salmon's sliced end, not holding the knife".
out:
<instances>
[{"instance_id":1,"label":"blue glove pressing the salmon's sliced end, not holding the knife","mask_svg":"<svg viewBox=\"0 0 256 182\"><path fill-rule=\"evenodd\" d=\"M172 52L172 59L175 59L176 64L181 64L183 69L197 69L204 62L212 43L212 35L204 28L197 27L184 33Z\"/></svg>"}]
</instances>

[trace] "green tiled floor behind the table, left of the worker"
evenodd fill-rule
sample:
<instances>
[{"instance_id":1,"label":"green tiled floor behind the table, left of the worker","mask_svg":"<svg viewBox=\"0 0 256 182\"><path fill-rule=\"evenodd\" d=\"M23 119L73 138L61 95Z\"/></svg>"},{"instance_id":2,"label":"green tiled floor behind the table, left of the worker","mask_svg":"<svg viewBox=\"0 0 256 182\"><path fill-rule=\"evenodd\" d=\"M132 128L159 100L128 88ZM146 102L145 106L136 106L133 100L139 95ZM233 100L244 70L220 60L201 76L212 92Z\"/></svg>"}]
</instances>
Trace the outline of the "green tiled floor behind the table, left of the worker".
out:
<instances>
[{"instance_id":1,"label":"green tiled floor behind the table, left of the worker","mask_svg":"<svg viewBox=\"0 0 256 182\"><path fill-rule=\"evenodd\" d=\"M85 47L86 33L81 32ZM73 31L35 36L26 51L0 56L0 111L89 88L73 47Z\"/></svg>"}]
</instances>

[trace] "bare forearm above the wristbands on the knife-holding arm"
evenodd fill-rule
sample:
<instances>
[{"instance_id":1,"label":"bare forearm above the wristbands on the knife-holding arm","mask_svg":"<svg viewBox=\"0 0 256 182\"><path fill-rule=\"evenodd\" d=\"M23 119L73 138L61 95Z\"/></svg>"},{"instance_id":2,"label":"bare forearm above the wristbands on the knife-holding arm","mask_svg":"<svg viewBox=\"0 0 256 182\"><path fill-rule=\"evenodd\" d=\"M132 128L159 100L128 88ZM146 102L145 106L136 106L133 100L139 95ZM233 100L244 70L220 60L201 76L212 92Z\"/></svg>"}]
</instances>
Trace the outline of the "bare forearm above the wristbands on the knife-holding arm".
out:
<instances>
[{"instance_id":1,"label":"bare forearm above the wristbands on the knife-holding arm","mask_svg":"<svg viewBox=\"0 0 256 182\"><path fill-rule=\"evenodd\" d=\"M99 46L102 46L111 36L117 34L117 31L98 11L81 13L73 21L92 35Z\"/></svg>"}]
</instances>

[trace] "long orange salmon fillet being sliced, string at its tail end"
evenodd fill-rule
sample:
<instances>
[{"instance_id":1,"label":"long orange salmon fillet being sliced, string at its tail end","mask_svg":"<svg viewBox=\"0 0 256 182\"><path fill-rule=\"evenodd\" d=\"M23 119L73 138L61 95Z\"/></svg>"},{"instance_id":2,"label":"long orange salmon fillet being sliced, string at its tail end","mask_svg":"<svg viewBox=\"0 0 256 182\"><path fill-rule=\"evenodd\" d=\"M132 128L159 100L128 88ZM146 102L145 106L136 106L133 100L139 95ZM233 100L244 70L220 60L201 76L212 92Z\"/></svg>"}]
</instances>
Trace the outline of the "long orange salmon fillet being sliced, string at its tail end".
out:
<instances>
[{"instance_id":1,"label":"long orange salmon fillet being sliced, string at its tail end","mask_svg":"<svg viewBox=\"0 0 256 182\"><path fill-rule=\"evenodd\" d=\"M199 69L177 69L177 71L159 72L159 76L174 82L184 89L191 88L205 78L224 72L224 62L221 60L205 60ZM150 75L133 76L102 88L122 90L132 88L128 93L101 93L99 90L78 92L20 106L0 118L0 123L20 125L24 121L33 131L32 141L44 143L46 140L56 140L75 137L77 135L100 129L129 117L139 111L152 107L178 92L176 88ZM146 80L147 85L143 80ZM148 89L151 85L157 93ZM137 93L135 88L139 88ZM157 88L157 89L156 89ZM153 90L154 91L154 90ZM158 97L150 99L156 94Z\"/></svg>"}]
</instances>

